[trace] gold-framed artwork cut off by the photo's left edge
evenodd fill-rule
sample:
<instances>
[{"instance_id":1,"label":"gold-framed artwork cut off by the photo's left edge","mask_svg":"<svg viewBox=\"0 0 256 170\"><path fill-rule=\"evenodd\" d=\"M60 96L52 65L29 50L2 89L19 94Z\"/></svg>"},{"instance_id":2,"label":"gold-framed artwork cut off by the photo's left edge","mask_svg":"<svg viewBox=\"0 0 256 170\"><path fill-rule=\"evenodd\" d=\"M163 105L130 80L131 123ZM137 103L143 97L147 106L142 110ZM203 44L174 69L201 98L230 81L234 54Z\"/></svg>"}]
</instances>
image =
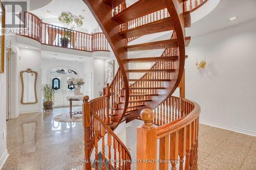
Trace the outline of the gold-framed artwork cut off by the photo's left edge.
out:
<instances>
[{"instance_id":1,"label":"gold-framed artwork cut off by the photo's left edge","mask_svg":"<svg viewBox=\"0 0 256 170\"><path fill-rule=\"evenodd\" d=\"M1 15L0 15L0 26L1 26L1 40L0 40L0 43L1 43L1 50L0 50L0 53L1 53L1 60L0 60L0 73L4 73L5 71L5 34L2 33L2 29L5 28L5 8L4 8L4 5L1 3L1 0L0 0L0 5L1 5Z\"/></svg>"}]
</instances>

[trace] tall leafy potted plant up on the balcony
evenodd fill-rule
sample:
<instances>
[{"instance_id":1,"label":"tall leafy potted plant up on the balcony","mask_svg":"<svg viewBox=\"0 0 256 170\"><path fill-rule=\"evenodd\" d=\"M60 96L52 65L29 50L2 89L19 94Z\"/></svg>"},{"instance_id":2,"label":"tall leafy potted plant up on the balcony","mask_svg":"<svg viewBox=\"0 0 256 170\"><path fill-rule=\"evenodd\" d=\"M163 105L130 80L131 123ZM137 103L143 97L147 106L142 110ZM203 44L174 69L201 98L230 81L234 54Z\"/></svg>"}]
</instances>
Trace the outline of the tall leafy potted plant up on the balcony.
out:
<instances>
[{"instance_id":1,"label":"tall leafy potted plant up on the balcony","mask_svg":"<svg viewBox=\"0 0 256 170\"><path fill-rule=\"evenodd\" d=\"M59 17L59 21L63 23L64 28L67 28L69 30L65 30L64 37L60 38L61 46L68 47L69 42L71 41L73 34L72 31L74 27L76 26L81 27L82 26L82 19L84 19L83 16L79 15L73 15L71 12L62 12Z\"/></svg>"}]
</instances>

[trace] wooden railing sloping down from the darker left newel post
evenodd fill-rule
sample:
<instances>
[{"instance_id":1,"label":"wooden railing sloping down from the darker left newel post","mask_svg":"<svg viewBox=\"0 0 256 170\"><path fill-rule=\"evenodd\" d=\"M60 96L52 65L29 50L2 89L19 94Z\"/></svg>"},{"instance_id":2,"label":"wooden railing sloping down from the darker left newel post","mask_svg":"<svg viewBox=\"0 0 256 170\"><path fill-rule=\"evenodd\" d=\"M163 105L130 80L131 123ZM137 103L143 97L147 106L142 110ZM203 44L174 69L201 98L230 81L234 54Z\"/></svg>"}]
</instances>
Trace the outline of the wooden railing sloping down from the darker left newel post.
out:
<instances>
[{"instance_id":1,"label":"wooden railing sloping down from the darker left newel post","mask_svg":"<svg viewBox=\"0 0 256 170\"><path fill-rule=\"evenodd\" d=\"M108 97L89 102L83 99L84 169L131 169L131 155L123 142L107 125ZM102 158L99 158L101 152ZM94 155L92 155L94 153ZM94 161L91 157L94 156ZM100 163L99 163L100 162Z\"/></svg>"}]
</instances>

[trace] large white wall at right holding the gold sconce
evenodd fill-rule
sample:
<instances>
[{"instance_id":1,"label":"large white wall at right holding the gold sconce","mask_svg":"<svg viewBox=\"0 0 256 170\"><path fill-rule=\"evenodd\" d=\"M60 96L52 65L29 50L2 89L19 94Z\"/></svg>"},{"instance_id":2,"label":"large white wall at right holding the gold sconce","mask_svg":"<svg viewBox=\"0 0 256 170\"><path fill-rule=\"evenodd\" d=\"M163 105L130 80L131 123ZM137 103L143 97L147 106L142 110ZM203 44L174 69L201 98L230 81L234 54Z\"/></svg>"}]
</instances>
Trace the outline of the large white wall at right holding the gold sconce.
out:
<instances>
[{"instance_id":1,"label":"large white wall at right holding the gold sconce","mask_svg":"<svg viewBox=\"0 0 256 170\"><path fill-rule=\"evenodd\" d=\"M193 38L187 48L186 98L203 123L256 135L256 20ZM205 69L195 63L206 58Z\"/></svg>"}]
</instances>

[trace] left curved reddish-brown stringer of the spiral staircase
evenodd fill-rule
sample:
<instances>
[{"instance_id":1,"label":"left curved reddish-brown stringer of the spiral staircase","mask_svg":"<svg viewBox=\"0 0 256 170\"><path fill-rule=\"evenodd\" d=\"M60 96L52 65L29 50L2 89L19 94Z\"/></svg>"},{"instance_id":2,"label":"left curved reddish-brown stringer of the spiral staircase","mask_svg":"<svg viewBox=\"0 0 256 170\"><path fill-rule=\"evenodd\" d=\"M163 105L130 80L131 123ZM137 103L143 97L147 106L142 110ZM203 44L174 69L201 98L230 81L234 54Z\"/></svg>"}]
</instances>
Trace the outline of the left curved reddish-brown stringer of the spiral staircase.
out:
<instances>
[{"instance_id":1,"label":"left curved reddish-brown stringer of the spiral staircase","mask_svg":"<svg viewBox=\"0 0 256 170\"><path fill-rule=\"evenodd\" d=\"M109 44L115 54L117 62L119 64L119 68L121 69L121 73L123 76L124 82L124 106L119 108L116 112L116 115L113 117L114 125L112 129L115 129L118 124L121 123L121 120L124 116L124 113L128 106L129 100L129 72L128 63L127 63L127 50L123 48L124 40L118 34L119 33L119 25L117 22L112 20L112 9L110 6L104 4L103 1L95 1L95 0L83 0L84 3L89 7L95 19L97 20L102 32L104 33L106 39L108 39Z\"/></svg>"}]
</instances>

